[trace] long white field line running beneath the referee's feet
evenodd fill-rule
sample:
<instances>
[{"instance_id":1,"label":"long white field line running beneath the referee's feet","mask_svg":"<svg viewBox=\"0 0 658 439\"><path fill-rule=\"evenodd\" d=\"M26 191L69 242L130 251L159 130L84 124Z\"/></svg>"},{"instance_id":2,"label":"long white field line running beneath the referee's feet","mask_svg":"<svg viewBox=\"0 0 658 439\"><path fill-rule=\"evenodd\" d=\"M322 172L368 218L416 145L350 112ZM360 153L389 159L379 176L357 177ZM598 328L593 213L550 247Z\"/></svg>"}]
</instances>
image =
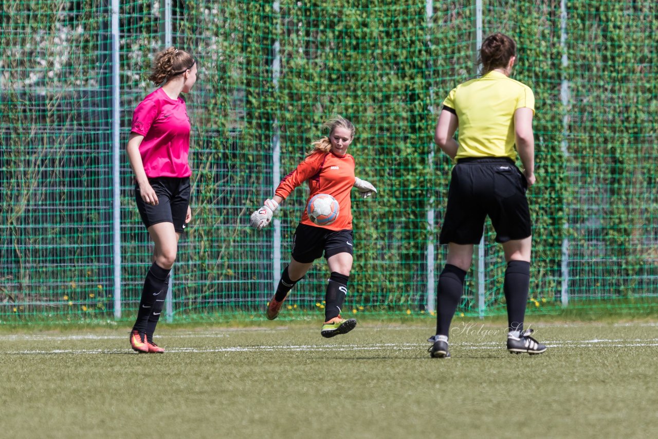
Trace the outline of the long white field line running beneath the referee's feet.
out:
<instances>
[{"instance_id":1,"label":"long white field line running beneath the referee's feet","mask_svg":"<svg viewBox=\"0 0 658 439\"><path fill-rule=\"evenodd\" d=\"M647 340L556 340L545 343L548 348L632 348L640 346L658 346L658 338ZM166 348L168 353L213 353L213 352L255 352L255 351L307 351L307 352L337 352L337 351L378 351L378 350L411 350L419 351L428 347L429 344L420 343L386 343L386 344L363 344L363 345L280 345L280 346L228 346L225 348ZM457 349L505 349L501 342L482 343L455 343ZM30 354L108 354L108 353L132 353L130 349L26 349L21 351L0 351L0 353L11 355ZM135 353L137 355L137 353Z\"/></svg>"}]
</instances>

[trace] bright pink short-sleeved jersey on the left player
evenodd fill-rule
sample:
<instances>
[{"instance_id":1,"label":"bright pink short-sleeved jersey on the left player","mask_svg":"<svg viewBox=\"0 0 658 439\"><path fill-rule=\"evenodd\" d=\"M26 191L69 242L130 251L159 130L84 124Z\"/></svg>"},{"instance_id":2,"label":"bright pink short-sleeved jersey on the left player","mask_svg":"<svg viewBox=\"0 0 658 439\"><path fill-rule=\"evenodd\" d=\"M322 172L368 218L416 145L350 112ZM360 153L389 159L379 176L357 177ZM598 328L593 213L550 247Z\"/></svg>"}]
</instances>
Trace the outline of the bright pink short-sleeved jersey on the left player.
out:
<instances>
[{"instance_id":1,"label":"bright pink short-sleeved jersey on the left player","mask_svg":"<svg viewBox=\"0 0 658 439\"><path fill-rule=\"evenodd\" d=\"M171 99L159 88L132 115L132 132L144 136L139 153L146 176L189 177L190 118L182 97Z\"/></svg>"}]
</instances>

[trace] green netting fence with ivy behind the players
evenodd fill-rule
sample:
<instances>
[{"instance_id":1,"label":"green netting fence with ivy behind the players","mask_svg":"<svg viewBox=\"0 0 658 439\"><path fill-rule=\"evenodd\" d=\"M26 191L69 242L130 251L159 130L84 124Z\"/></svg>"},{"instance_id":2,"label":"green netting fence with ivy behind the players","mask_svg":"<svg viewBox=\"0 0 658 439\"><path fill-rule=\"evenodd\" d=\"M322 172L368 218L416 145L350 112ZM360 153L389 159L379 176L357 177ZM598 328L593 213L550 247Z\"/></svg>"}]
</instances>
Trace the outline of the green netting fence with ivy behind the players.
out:
<instances>
[{"instance_id":1,"label":"green netting fence with ivy behind the players","mask_svg":"<svg viewBox=\"0 0 658 439\"><path fill-rule=\"evenodd\" d=\"M276 267L290 257L305 192L284 203L280 234L249 230L249 214L334 113L355 122L357 176L379 189L372 200L353 197L348 303L357 313L426 313L443 265L435 239L451 168L432 134L443 97L476 69L474 3L118 2L115 279L111 1L4 0L0 321L134 312L152 248L123 151L132 110L153 90L147 70L169 24L172 44L199 60L200 77L187 96L194 219L174 265L168 317L259 315ZM547 0L482 3L484 36L517 39L514 77L536 95L531 307L655 297L655 2L574 0L565 11ZM328 272L319 262L295 287L287 315L320 315ZM482 263L484 283L469 274L462 312L504 309L505 265L490 225Z\"/></svg>"}]
</instances>

